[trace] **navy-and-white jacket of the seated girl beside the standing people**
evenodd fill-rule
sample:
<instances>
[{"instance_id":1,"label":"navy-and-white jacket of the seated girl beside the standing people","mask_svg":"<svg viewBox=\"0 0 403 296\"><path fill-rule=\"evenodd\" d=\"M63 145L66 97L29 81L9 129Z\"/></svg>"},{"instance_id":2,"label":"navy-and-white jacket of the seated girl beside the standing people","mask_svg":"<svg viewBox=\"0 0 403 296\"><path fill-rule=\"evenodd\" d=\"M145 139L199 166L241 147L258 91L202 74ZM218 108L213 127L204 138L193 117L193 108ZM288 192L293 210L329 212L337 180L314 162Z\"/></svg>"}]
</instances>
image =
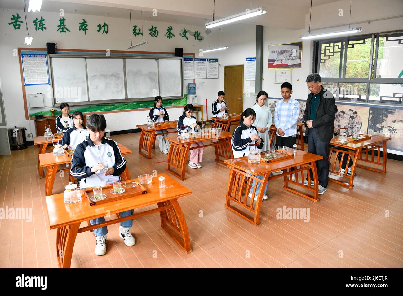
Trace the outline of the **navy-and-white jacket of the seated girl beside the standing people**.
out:
<instances>
[{"instance_id":1,"label":"navy-and-white jacket of the seated girl beside the standing people","mask_svg":"<svg viewBox=\"0 0 403 296\"><path fill-rule=\"evenodd\" d=\"M241 123L237 128L235 128L234 133L231 138L231 145L232 145L232 151L234 153L234 158L238 157L243 157L246 155L249 155L249 145L250 144L256 144L256 140L251 139L251 135L259 135L258 130L256 129L256 126L251 125L249 128ZM260 143L259 147L258 146L251 146L251 150L258 150L262 149L264 146L263 139L262 143Z\"/></svg>"}]
</instances>

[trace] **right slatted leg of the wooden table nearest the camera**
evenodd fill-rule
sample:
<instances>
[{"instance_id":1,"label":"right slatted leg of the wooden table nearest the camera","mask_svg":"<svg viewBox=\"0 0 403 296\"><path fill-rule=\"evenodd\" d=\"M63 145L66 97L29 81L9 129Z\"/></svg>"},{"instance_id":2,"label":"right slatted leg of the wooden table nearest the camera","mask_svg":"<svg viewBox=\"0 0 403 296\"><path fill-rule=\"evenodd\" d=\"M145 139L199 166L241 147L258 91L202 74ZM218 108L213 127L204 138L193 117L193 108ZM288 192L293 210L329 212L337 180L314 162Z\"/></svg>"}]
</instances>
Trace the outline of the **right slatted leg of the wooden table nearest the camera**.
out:
<instances>
[{"instance_id":1,"label":"right slatted leg of the wooden table nearest the camera","mask_svg":"<svg viewBox=\"0 0 403 296\"><path fill-rule=\"evenodd\" d=\"M173 238L186 253L190 253L189 231L185 216L183 215L181 206L177 199L158 203L158 207L166 207L171 205L170 209L160 211L161 227Z\"/></svg>"}]
</instances>

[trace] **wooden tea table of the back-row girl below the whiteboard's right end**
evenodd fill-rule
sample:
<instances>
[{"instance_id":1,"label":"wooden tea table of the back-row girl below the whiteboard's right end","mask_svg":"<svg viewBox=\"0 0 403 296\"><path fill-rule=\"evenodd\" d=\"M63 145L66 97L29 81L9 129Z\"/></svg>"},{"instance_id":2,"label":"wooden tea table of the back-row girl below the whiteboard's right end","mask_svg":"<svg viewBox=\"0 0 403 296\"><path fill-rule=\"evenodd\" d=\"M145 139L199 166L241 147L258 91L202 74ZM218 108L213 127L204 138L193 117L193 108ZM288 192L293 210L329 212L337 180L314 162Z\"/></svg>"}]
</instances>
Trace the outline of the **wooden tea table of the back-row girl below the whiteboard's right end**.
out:
<instances>
[{"instance_id":1,"label":"wooden tea table of the back-row girl below the whiteboard's right end","mask_svg":"<svg viewBox=\"0 0 403 296\"><path fill-rule=\"evenodd\" d=\"M137 125L136 127L141 129L140 141L139 141L139 153L148 159L151 159L151 149L155 149L155 140L158 135L166 135L177 133L177 122L172 122L168 124L161 124L161 126L147 126L147 124ZM174 131L171 132L163 132L160 134L156 134L157 130L169 130L174 128ZM147 152L147 154L143 153L143 150Z\"/></svg>"}]
</instances>

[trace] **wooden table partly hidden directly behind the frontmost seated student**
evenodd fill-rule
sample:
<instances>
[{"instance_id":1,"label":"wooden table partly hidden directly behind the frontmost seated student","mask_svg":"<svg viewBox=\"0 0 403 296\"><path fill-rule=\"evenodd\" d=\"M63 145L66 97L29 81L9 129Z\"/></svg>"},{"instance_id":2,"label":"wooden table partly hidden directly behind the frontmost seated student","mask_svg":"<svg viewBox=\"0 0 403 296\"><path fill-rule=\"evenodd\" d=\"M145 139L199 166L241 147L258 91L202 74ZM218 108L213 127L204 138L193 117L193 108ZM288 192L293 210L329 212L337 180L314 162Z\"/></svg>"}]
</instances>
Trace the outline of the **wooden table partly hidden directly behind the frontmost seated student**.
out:
<instances>
[{"instance_id":1,"label":"wooden table partly hidden directly behind the frontmost seated student","mask_svg":"<svg viewBox=\"0 0 403 296\"><path fill-rule=\"evenodd\" d=\"M126 146L118 143L120 153L122 155L125 154L131 154L132 151L127 148ZM54 156L53 152L50 153L42 153L39 154L39 166L43 169L48 167L46 170L46 180L45 180L45 195L52 195L53 191L53 184L54 184L54 179L56 177L57 169L60 164L69 164L71 162L71 156L67 155L67 152L65 152L63 155L60 156ZM68 169L70 170L70 169ZM130 174L129 174L129 169L127 168L127 162L126 162L126 169L125 171L120 175L122 176L123 179L129 180L130 179Z\"/></svg>"}]
</instances>

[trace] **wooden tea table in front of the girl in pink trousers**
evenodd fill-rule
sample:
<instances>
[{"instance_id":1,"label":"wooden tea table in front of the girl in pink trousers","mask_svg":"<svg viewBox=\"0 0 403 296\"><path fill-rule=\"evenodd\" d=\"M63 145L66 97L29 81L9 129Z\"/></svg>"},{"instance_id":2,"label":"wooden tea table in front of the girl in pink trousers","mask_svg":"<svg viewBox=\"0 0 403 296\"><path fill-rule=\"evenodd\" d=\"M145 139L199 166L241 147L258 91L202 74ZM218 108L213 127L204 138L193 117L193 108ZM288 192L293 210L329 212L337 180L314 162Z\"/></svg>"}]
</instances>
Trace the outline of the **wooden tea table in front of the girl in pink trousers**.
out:
<instances>
[{"instance_id":1,"label":"wooden tea table in front of the girl in pink trousers","mask_svg":"<svg viewBox=\"0 0 403 296\"><path fill-rule=\"evenodd\" d=\"M231 147L231 137L232 133L226 131L222 131L219 137L216 137L215 134L206 134L204 136L198 137L197 139L181 139L179 135L165 137L165 139L171 142L168 153L168 160L166 161L166 170L171 174L177 176L181 180L185 180L185 168L189 150L209 146L214 146L214 149L216 151L216 161L223 164L224 161L221 160L220 157L223 157L225 159L231 159L234 157ZM191 143L207 141L212 142L208 144L205 143L203 146L190 148ZM172 171L171 166L179 170L179 174Z\"/></svg>"}]
</instances>

